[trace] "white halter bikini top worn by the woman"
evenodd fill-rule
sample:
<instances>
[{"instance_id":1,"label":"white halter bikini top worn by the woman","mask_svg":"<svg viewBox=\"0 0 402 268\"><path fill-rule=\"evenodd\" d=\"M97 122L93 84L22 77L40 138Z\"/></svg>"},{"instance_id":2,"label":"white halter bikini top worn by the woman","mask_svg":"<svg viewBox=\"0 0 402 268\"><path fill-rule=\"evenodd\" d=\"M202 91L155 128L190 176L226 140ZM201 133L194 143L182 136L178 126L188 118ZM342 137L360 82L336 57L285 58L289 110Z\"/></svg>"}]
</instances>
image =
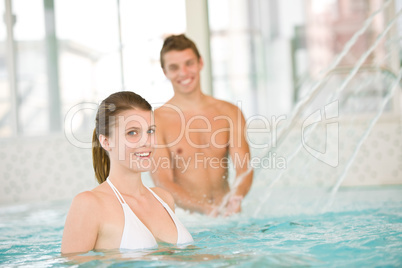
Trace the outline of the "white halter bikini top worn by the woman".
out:
<instances>
[{"instance_id":1,"label":"white halter bikini top worn by the woman","mask_svg":"<svg viewBox=\"0 0 402 268\"><path fill-rule=\"evenodd\" d=\"M123 235L121 237L120 248L121 249L150 249L157 248L158 243L155 240L155 237L152 235L151 231L138 219L138 217L131 210L129 205L124 200L123 196L120 192L114 187L112 182L107 179L106 180L113 192L116 194L117 199L119 200L121 206L123 207L124 212L124 230ZM170 209L170 207L159 197L157 196L151 189L145 186L154 196L155 198L162 204L162 206L169 213L172 218L174 224L177 229L177 245L181 244L190 244L193 243L193 237L187 231L186 227L180 222L180 220L176 217L174 212Z\"/></svg>"}]
</instances>

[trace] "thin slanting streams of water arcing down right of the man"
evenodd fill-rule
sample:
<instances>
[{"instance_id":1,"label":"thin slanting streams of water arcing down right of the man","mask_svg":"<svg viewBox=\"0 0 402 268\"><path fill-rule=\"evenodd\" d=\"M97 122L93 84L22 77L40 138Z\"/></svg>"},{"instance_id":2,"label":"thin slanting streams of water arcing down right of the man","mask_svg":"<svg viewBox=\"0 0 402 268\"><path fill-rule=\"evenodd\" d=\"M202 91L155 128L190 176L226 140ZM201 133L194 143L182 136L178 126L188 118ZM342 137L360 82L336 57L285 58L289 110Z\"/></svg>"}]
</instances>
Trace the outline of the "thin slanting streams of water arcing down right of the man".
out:
<instances>
[{"instance_id":1,"label":"thin slanting streams of water arcing down right of the man","mask_svg":"<svg viewBox=\"0 0 402 268\"><path fill-rule=\"evenodd\" d=\"M278 135L278 145L276 148L268 148L268 150L261 152L258 152L260 157L266 156L268 153L272 152L277 152L278 148L288 142L288 134L290 131L298 126L298 123L300 122L302 116L307 116L306 113L311 109L312 103L315 101L317 95L322 93L323 91L323 83L327 80L328 75L332 74L331 72L336 70L335 68L338 66L338 64L341 62L342 58L347 54L347 52L352 48L352 46L357 42L358 37L361 36L369 27L369 25L372 23L374 17L378 14L381 14L381 12L390 4L390 1L386 1L383 6L376 12L374 12L364 23L363 27L357 31L354 36L350 39L350 41L345 45L344 49L342 52L339 54L339 56L334 60L334 62L330 65L328 70L325 71L326 76L323 78L319 79L315 85L313 85L312 90L308 93L308 95L303 98L299 103L297 103L293 115L291 119L288 121L288 124L282 128L282 131ZM327 106L333 102L338 102L340 100L340 94L347 88L347 86L350 84L350 82L356 77L356 75L359 73L359 71L363 70L362 65L363 63L367 60L369 55L374 51L374 49L380 44L380 42L384 39L384 37L388 34L390 29L394 26L395 22L397 21L397 18L402 14L402 10L398 11L397 14L387 23L385 29L377 36L375 42L370 46L370 48L365 51L365 53L359 58L359 60L356 62L356 64L353 66L353 68L350 70L348 73L347 77L342 81L342 84L339 87L336 87L335 90L332 92L329 92L328 96L324 96L324 100L320 100L321 104L326 104ZM379 71L381 71L380 68L378 68ZM364 70L363 70L364 71ZM336 182L332 186L332 189L330 190L331 197L329 198L328 202L326 205L324 205L324 210L330 204L332 204L334 200L334 196L336 195L337 190L339 189L340 185L342 184L343 180L345 179L345 176L351 167L352 163L355 160L356 154L358 153L361 145L363 144L364 140L367 138L368 134L371 132L373 129L375 123L377 120L380 118L381 114L384 111L385 106L391 99L391 97L394 95L395 91L400 89L400 80L401 80L401 72L397 75L394 76L394 82L392 85L390 85L386 90L386 94L382 97L382 102L380 105L378 105L377 112L373 113L372 119L367 120L368 125L366 127L365 132L360 136L358 142L355 143L355 148L353 150L352 155L349 157L349 159L346 161L345 166L340 166L337 167L338 170L343 169L341 171L341 174L338 175L336 178ZM356 89L353 89L353 94L357 95L359 91L363 90L362 87L357 87ZM338 108L336 107L336 112L338 112ZM328 112L328 111L327 111ZM321 116L320 113L318 113L319 116ZM315 120L316 122L319 120ZM309 133L313 132L315 127L318 126L319 124L312 124L311 127L306 131L303 136L305 142L308 142L310 139L311 135ZM286 160L287 164L292 165L292 161L295 159L295 157L299 154L300 150L304 147L304 144L298 143L294 147L292 147L292 151L287 155ZM314 156L315 160L319 159L319 155ZM313 159L314 160L314 159ZM306 162L308 162L306 160ZM311 166L311 161L308 162L308 166ZM262 170L256 170L255 171L255 177L261 179L260 176L258 176L258 173L261 172ZM264 198L260 200L259 206L255 209L254 216L257 216L260 214L261 208L265 206L265 204L268 202L268 199L270 198L270 194L272 192L273 186L282 178L282 176L287 172L286 169L281 170L271 181L269 184L266 184L266 187L264 187ZM305 172L306 176L308 176L308 172ZM239 181L241 178L236 178L236 181ZM229 193L231 194L231 193ZM226 200L226 199L225 199Z\"/></svg>"}]
</instances>

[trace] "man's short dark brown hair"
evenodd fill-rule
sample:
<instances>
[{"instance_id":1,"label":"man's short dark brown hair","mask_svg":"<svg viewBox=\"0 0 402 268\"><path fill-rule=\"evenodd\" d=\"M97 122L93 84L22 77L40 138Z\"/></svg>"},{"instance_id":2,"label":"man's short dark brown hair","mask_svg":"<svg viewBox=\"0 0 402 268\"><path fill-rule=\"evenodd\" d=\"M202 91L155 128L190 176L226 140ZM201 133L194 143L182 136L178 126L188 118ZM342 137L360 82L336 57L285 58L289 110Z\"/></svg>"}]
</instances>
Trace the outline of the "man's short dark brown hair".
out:
<instances>
[{"instance_id":1,"label":"man's short dark brown hair","mask_svg":"<svg viewBox=\"0 0 402 268\"><path fill-rule=\"evenodd\" d=\"M198 52L197 46L194 44L193 41L187 38L187 36L185 36L184 34L179 34L167 37L163 42L163 46L160 52L160 61L162 68L165 65L163 56L166 53L172 50L182 51L188 48L190 48L194 52L194 54L197 56L197 59L200 59L201 55Z\"/></svg>"}]
</instances>

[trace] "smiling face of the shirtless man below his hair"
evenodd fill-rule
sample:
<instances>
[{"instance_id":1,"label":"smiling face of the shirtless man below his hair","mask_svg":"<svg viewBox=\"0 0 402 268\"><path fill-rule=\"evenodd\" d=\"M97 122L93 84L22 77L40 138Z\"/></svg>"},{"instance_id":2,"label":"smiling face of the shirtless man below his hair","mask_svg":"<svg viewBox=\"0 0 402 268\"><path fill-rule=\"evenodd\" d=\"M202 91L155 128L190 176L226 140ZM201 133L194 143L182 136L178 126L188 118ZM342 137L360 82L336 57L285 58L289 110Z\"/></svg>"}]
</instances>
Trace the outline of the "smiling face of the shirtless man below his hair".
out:
<instances>
[{"instance_id":1,"label":"smiling face of the shirtless man below his hair","mask_svg":"<svg viewBox=\"0 0 402 268\"><path fill-rule=\"evenodd\" d=\"M193 50L171 50L163 55L163 72L172 82L175 93L191 93L200 88L202 59L198 59Z\"/></svg>"}]
</instances>

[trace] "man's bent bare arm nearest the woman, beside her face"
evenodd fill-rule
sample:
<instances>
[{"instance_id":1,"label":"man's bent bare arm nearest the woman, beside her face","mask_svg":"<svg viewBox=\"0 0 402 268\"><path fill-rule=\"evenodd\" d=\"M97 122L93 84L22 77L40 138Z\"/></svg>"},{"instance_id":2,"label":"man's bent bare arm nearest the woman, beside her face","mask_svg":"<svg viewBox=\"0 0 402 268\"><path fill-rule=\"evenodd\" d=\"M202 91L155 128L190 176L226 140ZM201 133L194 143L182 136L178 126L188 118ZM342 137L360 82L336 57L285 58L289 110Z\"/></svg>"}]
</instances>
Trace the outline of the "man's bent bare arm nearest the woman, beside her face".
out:
<instances>
[{"instance_id":1,"label":"man's bent bare arm nearest the woman, beside her face","mask_svg":"<svg viewBox=\"0 0 402 268\"><path fill-rule=\"evenodd\" d=\"M174 182L173 165L169 150L166 146L160 145L164 144L162 134L156 134L156 138L159 146L154 151L154 161L151 170L151 177L155 186L170 192L179 207L207 215L211 214L215 208L214 206L208 203L201 203L193 198L183 187Z\"/></svg>"}]
</instances>

